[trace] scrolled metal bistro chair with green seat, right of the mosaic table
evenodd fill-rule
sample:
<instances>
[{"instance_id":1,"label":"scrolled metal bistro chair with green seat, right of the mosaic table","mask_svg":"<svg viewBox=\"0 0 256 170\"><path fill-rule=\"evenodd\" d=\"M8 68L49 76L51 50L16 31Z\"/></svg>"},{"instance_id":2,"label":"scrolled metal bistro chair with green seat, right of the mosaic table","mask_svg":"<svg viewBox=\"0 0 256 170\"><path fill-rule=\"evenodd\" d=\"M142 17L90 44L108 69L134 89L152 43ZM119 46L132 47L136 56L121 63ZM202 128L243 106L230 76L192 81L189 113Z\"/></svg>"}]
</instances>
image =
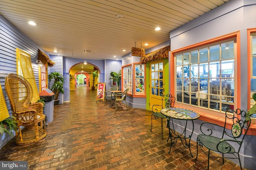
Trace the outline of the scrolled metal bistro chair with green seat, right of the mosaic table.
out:
<instances>
[{"instance_id":1,"label":"scrolled metal bistro chair with green seat, right of the mosaic table","mask_svg":"<svg viewBox=\"0 0 256 170\"><path fill-rule=\"evenodd\" d=\"M231 124L231 131L226 129L227 126L229 126L229 123ZM200 130L203 133L202 135L197 136L197 145L196 145L196 159L198 156L198 146L202 149L203 147L206 147L208 151L202 151L204 154L208 156L208 169L209 169L209 158L222 158L222 163L224 164L224 158L232 158L232 159L238 159L240 168L242 170L241 161L239 152L242 146L242 143L244 142L244 137L246 136L246 133L250 127L251 119L249 116L246 116L246 112L242 111L240 109L228 109L226 111L225 116L225 123L224 127L209 123L209 122L203 122L200 126ZM212 135L213 131L210 128L217 128L222 129L222 134L215 135L220 137L214 137ZM217 130L219 130L217 129ZM242 135L242 132L244 132L244 135ZM234 148L234 145L238 146L237 149ZM215 152L220 152L222 156L210 156L210 150ZM225 154L225 156L224 156ZM226 157L226 154L233 154L232 157L228 156Z\"/></svg>"}]
</instances>

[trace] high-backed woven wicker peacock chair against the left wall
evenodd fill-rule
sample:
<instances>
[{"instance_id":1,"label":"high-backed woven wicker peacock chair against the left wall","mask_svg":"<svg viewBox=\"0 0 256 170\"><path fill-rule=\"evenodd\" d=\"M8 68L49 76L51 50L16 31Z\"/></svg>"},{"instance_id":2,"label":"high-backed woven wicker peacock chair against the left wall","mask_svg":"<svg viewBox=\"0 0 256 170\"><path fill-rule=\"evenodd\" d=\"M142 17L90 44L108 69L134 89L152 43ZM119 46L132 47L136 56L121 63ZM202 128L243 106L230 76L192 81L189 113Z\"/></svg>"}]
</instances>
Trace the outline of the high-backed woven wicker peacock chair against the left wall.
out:
<instances>
[{"instance_id":1,"label":"high-backed woven wicker peacock chair against the left wall","mask_svg":"<svg viewBox=\"0 0 256 170\"><path fill-rule=\"evenodd\" d=\"M31 104L33 91L30 83L18 74L8 74L5 78L12 116L16 117L16 144L26 145L46 137L45 115L41 102ZM24 127L21 130L21 127Z\"/></svg>"}]
</instances>

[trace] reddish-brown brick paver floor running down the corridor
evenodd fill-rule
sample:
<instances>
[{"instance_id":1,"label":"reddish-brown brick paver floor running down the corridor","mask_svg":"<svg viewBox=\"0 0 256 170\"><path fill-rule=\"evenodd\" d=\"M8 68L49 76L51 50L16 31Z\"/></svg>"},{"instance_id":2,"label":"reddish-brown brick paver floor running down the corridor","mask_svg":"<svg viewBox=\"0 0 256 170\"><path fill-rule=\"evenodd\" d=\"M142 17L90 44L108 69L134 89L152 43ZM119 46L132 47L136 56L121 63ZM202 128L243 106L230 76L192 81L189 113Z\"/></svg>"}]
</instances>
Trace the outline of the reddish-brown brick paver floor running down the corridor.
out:
<instances>
[{"instance_id":1,"label":"reddish-brown brick paver floor running down the corridor","mask_svg":"<svg viewBox=\"0 0 256 170\"><path fill-rule=\"evenodd\" d=\"M54 106L44 139L21 146L12 139L0 149L0 160L26 160L34 170L207 169L207 156L200 152L195 161L179 141L168 154L168 129L162 139L161 124L153 120L150 132L151 111L111 105L110 100L96 102L96 90L77 86L70 91L70 103ZM194 141L191 150L196 155ZM225 162L211 158L210 169L240 169Z\"/></svg>"}]
</instances>

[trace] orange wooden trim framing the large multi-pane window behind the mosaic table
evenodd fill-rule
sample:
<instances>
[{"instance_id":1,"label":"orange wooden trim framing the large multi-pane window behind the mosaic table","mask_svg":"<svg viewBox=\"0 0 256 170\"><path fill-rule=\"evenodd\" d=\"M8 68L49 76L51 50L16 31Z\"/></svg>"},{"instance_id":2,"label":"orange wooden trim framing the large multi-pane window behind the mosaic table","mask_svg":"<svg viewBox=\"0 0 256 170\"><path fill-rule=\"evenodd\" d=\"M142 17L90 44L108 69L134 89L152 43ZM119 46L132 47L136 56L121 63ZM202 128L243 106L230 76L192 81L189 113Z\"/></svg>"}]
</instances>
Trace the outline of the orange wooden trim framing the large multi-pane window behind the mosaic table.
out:
<instances>
[{"instance_id":1,"label":"orange wooden trim framing the large multi-pane window behind the mosaic table","mask_svg":"<svg viewBox=\"0 0 256 170\"><path fill-rule=\"evenodd\" d=\"M250 30L256 30L256 29L250 29ZM236 58L235 58L236 68L241 68L241 65L240 65L240 60L241 60L241 56L240 56L240 51L241 51L241 49L240 49L240 31L236 31L236 32L233 32L233 33L222 35L220 37L216 37L216 38L213 38L213 39L202 41L202 42L194 44L194 45L190 45L190 46L187 46L187 47L183 47L181 49L171 51L170 52L170 56L171 56L171 59L170 59L170 78L171 78L170 92L171 92L171 94L174 94L174 54L175 53L185 51L185 50L188 50L188 49L192 49L192 48L195 48L195 47L200 47L202 45L207 45L207 44L210 44L210 43L222 41L224 39L228 39L228 38L232 38L232 37L236 37L236 46L237 46L236 47L236 49L237 49ZM240 108L240 102L241 102L240 101L240 94L241 94L240 84L237 83L237 82L240 82L240 80L241 80L240 77L241 77L241 70L237 69L236 80L235 80L235 83L236 83L236 105L235 106L236 106L236 108ZM248 94L249 94L249 91L248 91ZM199 119L202 120L202 121L208 121L210 123L216 123L217 125L220 125L220 126L224 125L224 121L225 121L224 115L222 115L222 117L219 114L216 115L215 111L206 110L206 109L203 109L203 108L200 108L200 107L194 107L194 106L189 106L189 105L180 104L180 103L176 103L175 107L182 107L182 108L185 108L185 109L191 109L193 111L198 112L200 114ZM207 111L207 113L206 113L206 111ZM228 123L227 129L231 129L231 123ZM254 136L256 135L256 124L251 124L250 128L248 129L247 134L248 135L254 135Z\"/></svg>"}]
</instances>

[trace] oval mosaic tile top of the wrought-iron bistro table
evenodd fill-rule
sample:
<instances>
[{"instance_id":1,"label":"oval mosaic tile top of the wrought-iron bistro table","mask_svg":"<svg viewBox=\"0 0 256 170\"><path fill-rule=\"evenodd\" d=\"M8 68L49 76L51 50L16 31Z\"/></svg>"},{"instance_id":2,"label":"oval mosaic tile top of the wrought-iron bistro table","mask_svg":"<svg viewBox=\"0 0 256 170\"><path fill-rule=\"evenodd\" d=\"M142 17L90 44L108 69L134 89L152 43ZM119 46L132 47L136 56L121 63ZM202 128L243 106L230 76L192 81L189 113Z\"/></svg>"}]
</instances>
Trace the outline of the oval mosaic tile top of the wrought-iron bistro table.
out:
<instances>
[{"instance_id":1,"label":"oval mosaic tile top of the wrought-iron bistro table","mask_svg":"<svg viewBox=\"0 0 256 170\"><path fill-rule=\"evenodd\" d=\"M192 110L176 108L176 107L168 107L161 109L161 113L173 119L180 120L195 120L200 117L200 115Z\"/></svg>"}]
</instances>

